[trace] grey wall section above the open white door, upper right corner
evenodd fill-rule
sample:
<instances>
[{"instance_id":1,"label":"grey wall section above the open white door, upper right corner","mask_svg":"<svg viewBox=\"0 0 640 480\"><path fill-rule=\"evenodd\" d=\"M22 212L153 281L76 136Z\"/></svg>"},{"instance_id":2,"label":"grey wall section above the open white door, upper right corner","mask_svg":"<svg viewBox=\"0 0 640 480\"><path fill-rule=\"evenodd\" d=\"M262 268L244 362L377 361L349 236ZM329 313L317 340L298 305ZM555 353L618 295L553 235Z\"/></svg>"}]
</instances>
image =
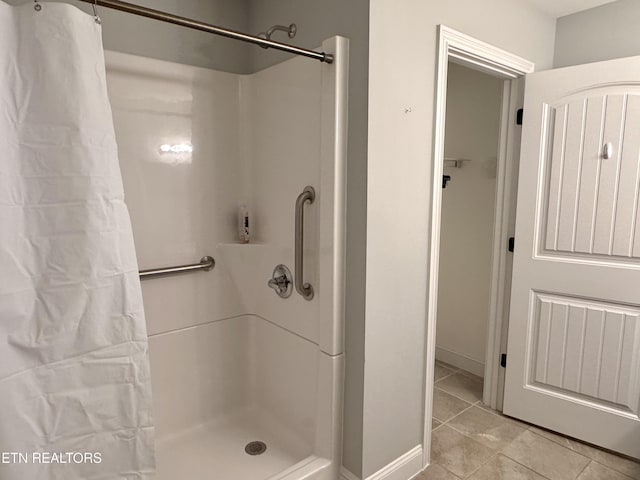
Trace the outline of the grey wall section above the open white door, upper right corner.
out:
<instances>
[{"instance_id":1,"label":"grey wall section above the open white door, upper right corner","mask_svg":"<svg viewBox=\"0 0 640 480\"><path fill-rule=\"evenodd\" d=\"M554 66L640 55L640 2L618 0L558 19Z\"/></svg>"}]
</instances>

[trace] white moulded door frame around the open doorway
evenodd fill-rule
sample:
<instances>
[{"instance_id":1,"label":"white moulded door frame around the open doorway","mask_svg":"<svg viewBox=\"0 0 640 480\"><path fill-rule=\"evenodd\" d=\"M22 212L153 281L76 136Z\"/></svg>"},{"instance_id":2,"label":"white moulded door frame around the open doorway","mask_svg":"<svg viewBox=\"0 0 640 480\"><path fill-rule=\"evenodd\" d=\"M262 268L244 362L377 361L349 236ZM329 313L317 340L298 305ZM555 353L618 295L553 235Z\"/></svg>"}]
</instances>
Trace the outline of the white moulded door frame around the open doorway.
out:
<instances>
[{"instance_id":1,"label":"white moulded door frame around the open doorway","mask_svg":"<svg viewBox=\"0 0 640 480\"><path fill-rule=\"evenodd\" d=\"M444 160L445 118L447 104L447 75L449 61L488 73L505 80L500 119L500 139L496 173L496 204L493 229L491 267L491 301L487 331L485 380L483 401L494 409L502 407L500 392L504 388L504 374L500 372L499 358L506 342L508 298L505 284L507 267L507 235L513 228L512 208L515 203L513 177L517 170L511 160L517 143L515 115L518 88L514 82L532 73L535 64L510 52L494 47L476 38L438 25L438 57L436 68L436 109L433 128L433 154L431 169L431 206L429 235L429 274L427 287L427 318L425 338L424 378L424 437L423 467L431 456L431 419L433 412L434 364L436 350L436 319L438 308L438 273L440 259L440 222L442 214L442 175ZM516 158L517 160L517 158ZM501 386L502 385L502 386Z\"/></svg>"}]
</instances>

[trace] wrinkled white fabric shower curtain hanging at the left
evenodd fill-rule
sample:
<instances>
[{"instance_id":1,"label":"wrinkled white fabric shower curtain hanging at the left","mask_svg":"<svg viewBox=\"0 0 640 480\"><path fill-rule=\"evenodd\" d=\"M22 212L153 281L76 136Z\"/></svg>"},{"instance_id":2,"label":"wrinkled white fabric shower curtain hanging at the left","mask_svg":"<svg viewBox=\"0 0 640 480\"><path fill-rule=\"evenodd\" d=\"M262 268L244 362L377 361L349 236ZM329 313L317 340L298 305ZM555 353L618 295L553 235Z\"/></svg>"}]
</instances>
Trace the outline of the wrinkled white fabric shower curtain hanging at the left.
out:
<instances>
[{"instance_id":1,"label":"wrinkled white fabric shower curtain hanging at the left","mask_svg":"<svg viewBox=\"0 0 640 480\"><path fill-rule=\"evenodd\" d=\"M152 478L151 386L100 26L0 1L0 479Z\"/></svg>"}]
</instances>

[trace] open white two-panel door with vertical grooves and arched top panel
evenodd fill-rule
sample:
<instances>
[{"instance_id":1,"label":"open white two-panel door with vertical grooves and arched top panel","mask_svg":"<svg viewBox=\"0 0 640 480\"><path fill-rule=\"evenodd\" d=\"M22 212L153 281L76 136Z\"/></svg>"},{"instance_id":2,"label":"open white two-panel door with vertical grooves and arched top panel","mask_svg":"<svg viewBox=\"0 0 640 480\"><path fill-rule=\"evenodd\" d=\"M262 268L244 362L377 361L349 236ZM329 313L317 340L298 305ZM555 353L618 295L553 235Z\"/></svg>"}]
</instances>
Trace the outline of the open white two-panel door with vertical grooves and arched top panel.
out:
<instances>
[{"instance_id":1,"label":"open white two-panel door with vertical grooves and arched top panel","mask_svg":"<svg viewBox=\"0 0 640 480\"><path fill-rule=\"evenodd\" d=\"M640 458L640 57L524 108L504 413Z\"/></svg>"}]
</instances>

